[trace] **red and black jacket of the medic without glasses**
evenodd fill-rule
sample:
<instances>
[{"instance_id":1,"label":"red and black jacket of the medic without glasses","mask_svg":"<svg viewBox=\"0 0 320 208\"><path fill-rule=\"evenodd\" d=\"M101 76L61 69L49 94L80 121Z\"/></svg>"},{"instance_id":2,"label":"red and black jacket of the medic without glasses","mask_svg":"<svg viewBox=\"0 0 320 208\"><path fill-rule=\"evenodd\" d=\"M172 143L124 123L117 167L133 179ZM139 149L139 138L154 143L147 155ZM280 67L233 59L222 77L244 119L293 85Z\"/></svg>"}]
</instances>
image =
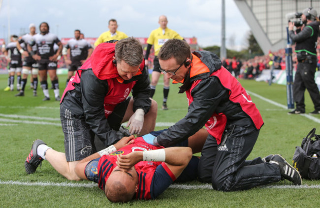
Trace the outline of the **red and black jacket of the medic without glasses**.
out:
<instances>
[{"instance_id":1,"label":"red and black jacket of the medic without glasses","mask_svg":"<svg viewBox=\"0 0 320 208\"><path fill-rule=\"evenodd\" d=\"M71 111L70 116L85 117L86 123L106 146L118 140L107 117L128 97L131 89L133 112L141 108L146 114L151 106L150 81L144 60L135 76L123 80L112 62L115 45L110 42L99 44L91 58L71 77L61 99L61 104Z\"/></svg>"}]
</instances>

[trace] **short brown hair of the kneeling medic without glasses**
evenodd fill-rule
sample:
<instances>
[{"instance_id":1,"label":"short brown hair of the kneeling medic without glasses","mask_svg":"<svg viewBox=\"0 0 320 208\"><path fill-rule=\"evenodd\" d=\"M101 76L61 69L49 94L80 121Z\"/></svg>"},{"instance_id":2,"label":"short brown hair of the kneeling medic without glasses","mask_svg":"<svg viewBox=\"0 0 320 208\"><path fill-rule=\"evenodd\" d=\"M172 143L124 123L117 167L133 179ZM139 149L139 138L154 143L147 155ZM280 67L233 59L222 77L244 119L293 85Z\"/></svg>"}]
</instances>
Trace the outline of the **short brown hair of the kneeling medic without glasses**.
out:
<instances>
[{"instance_id":1,"label":"short brown hair of the kneeling medic without glasses","mask_svg":"<svg viewBox=\"0 0 320 208\"><path fill-rule=\"evenodd\" d=\"M134 37L119 40L115 48L115 58L118 62L124 60L129 66L138 66L143 60L143 50L140 41Z\"/></svg>"}]
</instances>

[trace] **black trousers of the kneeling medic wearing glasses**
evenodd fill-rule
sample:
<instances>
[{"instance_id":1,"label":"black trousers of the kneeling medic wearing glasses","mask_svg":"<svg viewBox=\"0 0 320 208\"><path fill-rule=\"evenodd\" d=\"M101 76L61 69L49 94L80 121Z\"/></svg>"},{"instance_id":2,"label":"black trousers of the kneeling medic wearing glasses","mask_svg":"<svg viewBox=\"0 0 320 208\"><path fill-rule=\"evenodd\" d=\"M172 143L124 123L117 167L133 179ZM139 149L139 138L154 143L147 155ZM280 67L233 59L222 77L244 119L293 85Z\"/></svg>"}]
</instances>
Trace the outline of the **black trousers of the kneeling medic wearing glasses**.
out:
<instances>
[{"instance_id":1,"label":"black trousers of the kneeling medic wearing glasses","mask_svg":"<svg viewBox=\"0 0 320 208\"><path fill-rule=\"evenodd\" d=\"M226 130L230 132L233 125L233 133L224 146L209 134L201 151L199 180L212 182L212 187L221 191L245 190L279 181L280 169L276 164L264 163L260 157L246 161L259 134L251 119L227 123Z\"/></svg>"}]
</instances>

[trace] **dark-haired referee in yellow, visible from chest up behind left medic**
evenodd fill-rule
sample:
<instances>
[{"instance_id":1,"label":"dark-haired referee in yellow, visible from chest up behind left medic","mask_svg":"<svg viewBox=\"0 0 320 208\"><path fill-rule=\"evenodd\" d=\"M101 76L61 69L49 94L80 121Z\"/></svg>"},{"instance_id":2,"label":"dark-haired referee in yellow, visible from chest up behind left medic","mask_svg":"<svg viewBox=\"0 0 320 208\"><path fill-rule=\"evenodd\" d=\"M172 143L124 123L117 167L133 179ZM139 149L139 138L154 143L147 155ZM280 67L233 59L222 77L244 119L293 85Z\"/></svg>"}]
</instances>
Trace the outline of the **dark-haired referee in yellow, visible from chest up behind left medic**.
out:
<instances>
[{"instance_id":1,"label":"dark-haired referee in yellow, visible from chest up behind left medic","mask_svg":"<svg viewBox=\"0 0 320 208\"><path fill-rule=\"evenodd\" d=\"M109 20L109 31L103 32L100 34L98 39L96 39L95 47L99 45L100 43L104 43L109 40L121 40L128 37L128 35L124 32L118 31L118 24L117 20L111 19Z\"/></svg>"}]
</instances>

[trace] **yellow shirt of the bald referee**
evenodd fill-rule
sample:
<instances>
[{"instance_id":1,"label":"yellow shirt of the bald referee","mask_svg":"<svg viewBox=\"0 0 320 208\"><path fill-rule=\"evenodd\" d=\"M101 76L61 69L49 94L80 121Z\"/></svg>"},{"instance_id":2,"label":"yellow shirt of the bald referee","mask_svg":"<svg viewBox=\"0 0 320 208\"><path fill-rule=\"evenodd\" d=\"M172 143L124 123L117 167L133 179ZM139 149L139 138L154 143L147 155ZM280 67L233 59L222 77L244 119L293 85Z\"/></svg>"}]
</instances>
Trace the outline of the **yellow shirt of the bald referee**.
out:
<instances>
[{"instance_id":1,"label":"yellow shirt of the bald referee","mask_svg":"<svg viewBox=\"0 0 320 208\"><path fill-rule=\"evenodd\" d=\"M153 45L155 49L155 56L158 56L161 46L165 43L165 41L169 39L183 40L183 37L181 37L178 34L178 32L174 30L170 30L168 28L164 30L164 34L163 34L162 28L158 28L156 30L152 30L147 40L147 43L150 45Z\"/></svg>"}]
</instances>

